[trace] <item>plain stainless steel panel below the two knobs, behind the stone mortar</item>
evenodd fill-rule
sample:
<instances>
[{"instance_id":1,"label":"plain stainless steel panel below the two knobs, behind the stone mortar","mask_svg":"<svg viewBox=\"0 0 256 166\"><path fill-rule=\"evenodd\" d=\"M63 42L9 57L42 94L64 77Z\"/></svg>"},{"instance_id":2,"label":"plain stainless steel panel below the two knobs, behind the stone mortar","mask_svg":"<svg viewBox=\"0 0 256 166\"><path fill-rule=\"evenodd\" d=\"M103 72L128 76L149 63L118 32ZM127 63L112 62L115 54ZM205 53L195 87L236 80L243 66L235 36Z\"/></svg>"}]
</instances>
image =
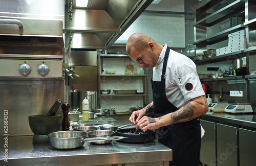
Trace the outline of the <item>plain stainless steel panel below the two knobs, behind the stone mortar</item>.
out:
<instances>
[{"instance_id":1,"label":"plain stainless steel panel below the two knobs, behind the stone mortar","mask_svg":"<svg viewBox=\"0 0 256 166\"><path fill-rule=\"evenodd\" d=\"M46 114L58 99L64 102L62 79L0 78L0 117L4 117L4 109L7 109L9 136L33 135L28 116ZM61 111L59 108L57 114L62 114ZM4 129L3 118L0 127ZM4 130L0 134L3 135Z\"/></svg>"}]
</instances>

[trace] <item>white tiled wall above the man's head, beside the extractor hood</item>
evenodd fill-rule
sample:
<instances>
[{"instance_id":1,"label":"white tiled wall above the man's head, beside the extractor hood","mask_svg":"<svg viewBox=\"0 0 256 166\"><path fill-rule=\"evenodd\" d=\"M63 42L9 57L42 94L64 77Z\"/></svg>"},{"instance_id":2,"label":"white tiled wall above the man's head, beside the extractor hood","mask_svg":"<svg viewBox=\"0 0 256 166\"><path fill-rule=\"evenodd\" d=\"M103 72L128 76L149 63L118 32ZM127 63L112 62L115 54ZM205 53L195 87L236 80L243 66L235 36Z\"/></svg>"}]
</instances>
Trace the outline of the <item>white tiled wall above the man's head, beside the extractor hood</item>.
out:
<instances>
[{"instance_id":1,"label":"white tiled wall above the man's head, beside the extractor hood","mask_svg":"<svg viewBox=\"0 0 256 166\"><path fill-rule=\"evenodd\" d=\"M146 10L184 12L184 0L162 0L157 5L150 5ZM115 43L126 43L134 33L145 33L158 43L167 43L170 47L185 47L184 15L141 14Z\"/></svg>"}]
</instances>

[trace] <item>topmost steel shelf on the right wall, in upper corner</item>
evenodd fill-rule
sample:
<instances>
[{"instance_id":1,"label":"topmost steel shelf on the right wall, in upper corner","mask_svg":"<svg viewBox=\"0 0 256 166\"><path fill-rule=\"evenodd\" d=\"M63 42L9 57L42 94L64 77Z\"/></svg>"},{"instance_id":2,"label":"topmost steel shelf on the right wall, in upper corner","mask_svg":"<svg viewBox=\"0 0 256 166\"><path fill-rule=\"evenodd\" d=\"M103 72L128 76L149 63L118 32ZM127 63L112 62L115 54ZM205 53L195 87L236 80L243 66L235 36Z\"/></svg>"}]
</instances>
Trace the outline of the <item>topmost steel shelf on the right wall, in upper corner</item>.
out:
<instances>
[{"instance_id":1,"label":"topmost steel shelf on the right wall, in upper corner","mask_svg":"<svg viewBox=\"0 0 256 166\"><path fill-rule=\"evenodd\" d=\"M197 21L193 26L197 28L211 27L218 22L221 22L233 15L236 15L244 10L245 3L242 0L235 1L226 7L206 16ZM201 10L201 8L199 8Z\"/></svg>"}]
</instances>

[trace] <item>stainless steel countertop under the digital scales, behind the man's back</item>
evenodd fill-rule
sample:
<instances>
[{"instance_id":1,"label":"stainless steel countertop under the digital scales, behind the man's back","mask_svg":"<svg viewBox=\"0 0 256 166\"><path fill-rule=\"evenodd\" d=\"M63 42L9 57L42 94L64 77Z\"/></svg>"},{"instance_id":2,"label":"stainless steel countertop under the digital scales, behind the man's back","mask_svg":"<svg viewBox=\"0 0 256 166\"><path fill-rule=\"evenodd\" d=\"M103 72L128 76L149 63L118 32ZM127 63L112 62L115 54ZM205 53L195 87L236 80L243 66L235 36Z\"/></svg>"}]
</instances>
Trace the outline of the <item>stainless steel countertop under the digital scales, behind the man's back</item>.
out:
<instances>
[{"instance_id":1,"label":"stainless steel countertop under the digital scales, behind the man's back","mask_svg":"<svg viewBox=\"0 0 256 166\"><path fill-rule=\"evenodd\" d=\"M212 113L207 112L200 116L202 119L219 121L244 127L256 129L256 114L255 113Z\"/></svg>"}]
</instances>

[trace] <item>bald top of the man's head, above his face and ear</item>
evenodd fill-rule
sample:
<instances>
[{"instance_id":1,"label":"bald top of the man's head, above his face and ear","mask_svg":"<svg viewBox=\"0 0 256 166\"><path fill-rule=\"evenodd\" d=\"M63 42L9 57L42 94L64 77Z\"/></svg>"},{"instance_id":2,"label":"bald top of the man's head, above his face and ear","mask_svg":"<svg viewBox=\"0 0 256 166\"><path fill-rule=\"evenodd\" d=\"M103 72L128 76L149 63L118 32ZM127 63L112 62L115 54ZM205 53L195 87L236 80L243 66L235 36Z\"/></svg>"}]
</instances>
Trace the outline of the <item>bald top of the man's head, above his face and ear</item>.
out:
<instances>
[{"instance_id":1,"label":"bald top of the man's head, above his face and ear","mask_svg":"<svg viewBox=\"0 0 256 166\"><path fill-rule=\"evenodd\" d=\"M150 36L144 33L134 33L132 34L126 43L126 52L129 55L131 52L131 48L135 48L137 51L143 51L147 48L147 43L153 42L157 44L157 42Z\"/></svg>"}]
</instances>

